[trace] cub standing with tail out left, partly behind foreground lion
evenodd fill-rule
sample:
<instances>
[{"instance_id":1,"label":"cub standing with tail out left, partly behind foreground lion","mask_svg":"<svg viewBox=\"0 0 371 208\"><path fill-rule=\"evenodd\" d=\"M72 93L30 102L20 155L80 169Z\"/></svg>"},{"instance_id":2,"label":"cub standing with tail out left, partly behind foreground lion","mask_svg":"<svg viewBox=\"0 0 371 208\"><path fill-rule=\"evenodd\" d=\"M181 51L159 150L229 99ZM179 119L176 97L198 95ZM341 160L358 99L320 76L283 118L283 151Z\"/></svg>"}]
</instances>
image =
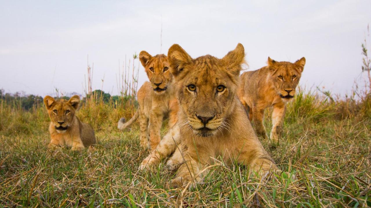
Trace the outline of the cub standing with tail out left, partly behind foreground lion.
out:
<instances>
[{"instance_id":1,"label":"cub standing with tail out left, partly behind foreground lion","mask_svg":"<svg viewBox=\"0 0 371 208\"><path fill-rule=\"evenodd\" d=\"M138 90L139 107L134 116L127 123L124 123L125 118L121 118L118 128L124 130L139 117L140 145L154 149L161 140L160 130L163 119L169 117L169 127L176 123L178 103L167 57L164 54L151 56L147 51L141 51L139 60L150 81L146 81Z\"/></svg>"}]
</instances>

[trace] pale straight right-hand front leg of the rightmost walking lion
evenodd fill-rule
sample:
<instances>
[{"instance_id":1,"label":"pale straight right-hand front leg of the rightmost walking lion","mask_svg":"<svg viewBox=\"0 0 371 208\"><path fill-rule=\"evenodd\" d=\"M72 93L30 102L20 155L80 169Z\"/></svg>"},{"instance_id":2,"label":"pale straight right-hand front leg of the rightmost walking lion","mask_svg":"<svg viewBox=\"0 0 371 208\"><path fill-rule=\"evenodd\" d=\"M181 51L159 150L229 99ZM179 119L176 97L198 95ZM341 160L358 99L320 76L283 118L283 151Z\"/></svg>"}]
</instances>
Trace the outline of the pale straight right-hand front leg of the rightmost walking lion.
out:
<instances>
[{"instance_id":1,"label":"pale straight right-hand front leg of the rightmost walking lion","mask_svg":"<svg viewBox=\"0 0 371 208\"><path fill-rule=\"evenodd\" d=\"M285 104L273 105L272 112L272 131L270 132L270 140L278 142L282 134L283 117L285 116L286 106Z\"/></svg>"}]
</instances>

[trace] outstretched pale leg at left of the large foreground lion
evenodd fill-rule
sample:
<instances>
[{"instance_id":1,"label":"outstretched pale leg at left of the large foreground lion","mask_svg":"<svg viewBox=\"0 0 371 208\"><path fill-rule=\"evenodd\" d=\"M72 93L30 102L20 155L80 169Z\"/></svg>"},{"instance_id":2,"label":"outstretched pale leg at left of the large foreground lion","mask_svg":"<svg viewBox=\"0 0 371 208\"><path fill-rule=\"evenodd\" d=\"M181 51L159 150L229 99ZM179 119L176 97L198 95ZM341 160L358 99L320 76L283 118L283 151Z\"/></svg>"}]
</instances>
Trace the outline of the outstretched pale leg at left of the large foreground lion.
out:
<instances>
[{"instance_id":1,"label":"outstretched pale leg at left of the large foreground lion","mask_svg":"<svg viewBox=\"0 0 371 208\"><path fill-rule=\"evenodd\" d=\"M175 142L176 144L175 144ZM178 125L175 125L169 130L164 138L157 145L156 149L151 152L139 165L139 170L149 169L151 166L157 165L161 160L169 157L180 144L180 132Z\"/></svg>"}]
</instances>

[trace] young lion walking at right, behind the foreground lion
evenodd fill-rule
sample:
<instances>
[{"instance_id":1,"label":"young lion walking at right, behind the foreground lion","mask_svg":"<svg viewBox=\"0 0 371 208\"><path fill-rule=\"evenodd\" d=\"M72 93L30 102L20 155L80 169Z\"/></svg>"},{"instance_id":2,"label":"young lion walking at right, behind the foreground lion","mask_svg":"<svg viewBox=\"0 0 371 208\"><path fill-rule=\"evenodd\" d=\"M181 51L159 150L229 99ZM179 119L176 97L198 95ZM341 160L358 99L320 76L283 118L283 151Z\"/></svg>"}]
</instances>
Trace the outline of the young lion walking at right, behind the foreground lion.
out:
<instances>
[{"instance_id":1,"label":"young lion walking at right, behind the foreground lion","mask_svg":"<svg viewBox=\"0 0 371 208\"><path fill-rule=\"evenodd\" d=\"M241 75L242 83L237 95L246 108L250 121L253 121L257 135L268 139L263 125L264 110L273 107L270 139L278 142L282 134L286 103L295 96L295 88L304 65L304 57L295 63L278 62L268 57L268 66Z\"/></svg>"}]
</instances>

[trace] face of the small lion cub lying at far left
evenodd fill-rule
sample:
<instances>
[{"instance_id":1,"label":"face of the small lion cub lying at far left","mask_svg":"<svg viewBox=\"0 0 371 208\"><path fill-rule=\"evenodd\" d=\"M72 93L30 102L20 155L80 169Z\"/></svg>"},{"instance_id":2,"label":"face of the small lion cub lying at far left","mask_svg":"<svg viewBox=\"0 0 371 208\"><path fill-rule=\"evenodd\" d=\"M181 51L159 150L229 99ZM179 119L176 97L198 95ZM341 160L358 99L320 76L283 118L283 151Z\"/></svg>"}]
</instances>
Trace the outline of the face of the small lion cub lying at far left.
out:
<instances>
[{"instance_id":1,"label":"face of the small lion cub lying at far left","mask_svg":"<svg viewBox=\"0 0 371 208\"><path fill-rule=\"evenodd\" d=\"M72 125L76 109L79 106L80 97L74 95L68 101L65 99L54 100L50 96L44 98L44 104L48 111L50 120L58 133L64 133L69 125Z\"/></svg>"}]
</instances>

